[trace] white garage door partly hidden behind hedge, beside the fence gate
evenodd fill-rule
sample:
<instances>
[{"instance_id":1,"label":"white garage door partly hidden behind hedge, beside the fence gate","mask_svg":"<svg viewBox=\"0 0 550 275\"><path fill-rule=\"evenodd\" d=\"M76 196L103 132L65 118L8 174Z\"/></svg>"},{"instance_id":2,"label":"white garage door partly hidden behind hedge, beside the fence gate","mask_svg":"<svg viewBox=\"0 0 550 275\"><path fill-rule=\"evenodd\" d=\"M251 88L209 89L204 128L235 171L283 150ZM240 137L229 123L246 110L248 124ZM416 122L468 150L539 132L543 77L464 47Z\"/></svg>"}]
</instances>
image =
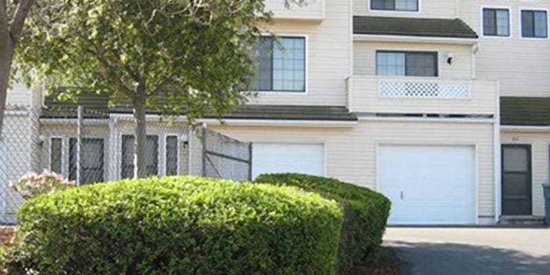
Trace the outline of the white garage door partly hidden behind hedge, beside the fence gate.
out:
<instances>
[{"instance_id":1,"label":"white garage door partly hidden behind hedge, beside the fence gate","mask_svg":"<svg viewBox=\"0 0 550 275\"><path fill-rule=\"evenodd\" d=\"M252 177L264 173L325 175L323 144L252 144Z\"/></svg>"}]
</instances>

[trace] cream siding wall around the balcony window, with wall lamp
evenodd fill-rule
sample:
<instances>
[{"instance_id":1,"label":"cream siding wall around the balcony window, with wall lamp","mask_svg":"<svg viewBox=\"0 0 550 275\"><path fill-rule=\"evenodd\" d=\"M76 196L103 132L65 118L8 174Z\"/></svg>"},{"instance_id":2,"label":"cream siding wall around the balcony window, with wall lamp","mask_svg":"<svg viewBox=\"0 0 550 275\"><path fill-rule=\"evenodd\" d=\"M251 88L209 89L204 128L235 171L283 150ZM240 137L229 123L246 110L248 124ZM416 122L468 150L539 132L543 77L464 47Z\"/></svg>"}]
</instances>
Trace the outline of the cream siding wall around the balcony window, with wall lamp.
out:
<instances>
[{"instance_id":1,"label":"cream siding wall around the balcony window, with wall lamp","mask_svg":"<svg viewBox=\"0 0 550 275\"><path fill-rule=\"evenodd\" d=\"M472 78L472 47L470 45L364 42L353 43L353 74L376 74L376 52L378 50L437 52L439 76L442 78ZM446 54L454 54L452 65L448 65Z\"/></svg>"}]
</instances>

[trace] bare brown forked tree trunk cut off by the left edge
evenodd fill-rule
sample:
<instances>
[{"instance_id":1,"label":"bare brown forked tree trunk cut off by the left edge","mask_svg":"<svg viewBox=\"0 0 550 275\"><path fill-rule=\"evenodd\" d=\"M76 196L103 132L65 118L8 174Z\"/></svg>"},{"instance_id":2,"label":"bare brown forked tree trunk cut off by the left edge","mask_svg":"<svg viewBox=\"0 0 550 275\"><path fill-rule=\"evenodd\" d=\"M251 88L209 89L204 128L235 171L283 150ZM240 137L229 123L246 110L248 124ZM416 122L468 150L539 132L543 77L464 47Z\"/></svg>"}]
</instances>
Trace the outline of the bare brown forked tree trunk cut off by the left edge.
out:
<instances>
[{"instance_id":1,"label":"bare brown forked tree trunk cut off by the left edge","mask_svg":"<svg viewBox=\"0 0 550 275\"><path fill-rule=\"evenodd\" d=\"M0 135L8 98L14 50L34 0L0 0Z\"/></svg>"}]
</instances>

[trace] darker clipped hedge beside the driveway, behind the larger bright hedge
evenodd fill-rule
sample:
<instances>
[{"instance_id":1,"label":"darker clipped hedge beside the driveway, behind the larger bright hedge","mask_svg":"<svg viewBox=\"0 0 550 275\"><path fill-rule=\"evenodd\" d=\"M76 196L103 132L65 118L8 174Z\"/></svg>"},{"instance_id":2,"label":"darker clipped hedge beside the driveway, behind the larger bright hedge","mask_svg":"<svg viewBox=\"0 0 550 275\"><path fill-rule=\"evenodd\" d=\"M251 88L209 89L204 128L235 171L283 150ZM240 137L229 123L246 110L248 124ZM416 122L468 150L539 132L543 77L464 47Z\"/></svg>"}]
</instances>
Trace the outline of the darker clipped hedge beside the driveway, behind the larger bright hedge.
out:
<instances>
[{"instance_id":1,"label":"darker clipped hedge beside the driveway, behind the larger bright hedge","mask_svg":"<svg viewBox=\"0 0 550 275\"><path fill-rule=\"evenodd\" d=\"M375 261L381 256L382 236L391 206L384 195L338 179L310 175L261 175L256 178L256 182L298 186L335 199L344 206L344 224L338 255L339 274L350 274L357 265L365 261Z\"/></svg>"}]
</instances>

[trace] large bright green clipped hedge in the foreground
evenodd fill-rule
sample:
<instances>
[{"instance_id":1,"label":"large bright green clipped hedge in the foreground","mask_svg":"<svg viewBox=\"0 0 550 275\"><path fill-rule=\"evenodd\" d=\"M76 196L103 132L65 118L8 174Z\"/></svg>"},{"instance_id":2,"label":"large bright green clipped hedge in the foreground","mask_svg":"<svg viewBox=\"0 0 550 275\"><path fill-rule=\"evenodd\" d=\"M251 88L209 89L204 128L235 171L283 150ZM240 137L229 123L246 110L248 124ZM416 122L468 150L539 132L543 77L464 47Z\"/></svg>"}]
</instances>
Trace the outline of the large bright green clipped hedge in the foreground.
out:
<instances>
[{"instance_id":1,"label":"large bright green clipped hedge in the foreground","mask_svg":"<svg viewBox=\"0 0 550 275\"><path fill-rule=\"evenodd\" d=\"M9 274L335 274L336 201L193 177L72 188L26 201Z\"/></svg>"}]
</instances>

